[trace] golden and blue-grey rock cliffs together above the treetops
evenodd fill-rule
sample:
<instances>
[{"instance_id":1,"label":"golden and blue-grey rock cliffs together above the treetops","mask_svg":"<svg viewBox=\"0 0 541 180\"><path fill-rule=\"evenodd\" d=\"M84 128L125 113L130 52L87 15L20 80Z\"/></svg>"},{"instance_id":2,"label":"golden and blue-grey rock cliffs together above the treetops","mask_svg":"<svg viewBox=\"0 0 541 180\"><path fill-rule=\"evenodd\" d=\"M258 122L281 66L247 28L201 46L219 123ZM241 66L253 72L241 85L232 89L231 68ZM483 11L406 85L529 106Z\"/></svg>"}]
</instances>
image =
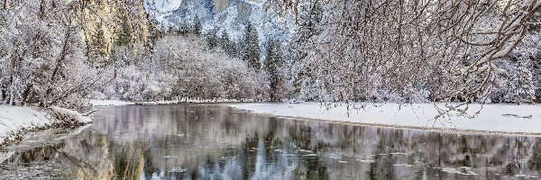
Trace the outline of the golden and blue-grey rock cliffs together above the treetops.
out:
<instances>
[{"instance_id":1,"label":"golden and blue-grey rock cliffs together above the treetops","mask_svg":"<svg viewBox=\"0 0 541 180\"><path fill-rule=\"evenodd\" d=\"M156 1L160 6L160 1ZM179 7L160 14L152 13L151 1L147 0L90 0L83 8L84 18L80 23L84 30L82 35L91 41L98 31L103 31L106 50L110 51L115 43L116 32L121 24L128 21L135 45L147 44L155 23L151 23L150 14L164 26L174 26L180 23L191 23L196 16L203 25L203 31L217 29L228 31L230 39L240 40L244 26L251 22L259 32L261 55L264 56L268 40L278 40L285 44L292 39L297 31L294 16L281 14L271 8L268 0L184 0ZM278 17L277 17L278 16Z\"/></svg>"}]
</instances>

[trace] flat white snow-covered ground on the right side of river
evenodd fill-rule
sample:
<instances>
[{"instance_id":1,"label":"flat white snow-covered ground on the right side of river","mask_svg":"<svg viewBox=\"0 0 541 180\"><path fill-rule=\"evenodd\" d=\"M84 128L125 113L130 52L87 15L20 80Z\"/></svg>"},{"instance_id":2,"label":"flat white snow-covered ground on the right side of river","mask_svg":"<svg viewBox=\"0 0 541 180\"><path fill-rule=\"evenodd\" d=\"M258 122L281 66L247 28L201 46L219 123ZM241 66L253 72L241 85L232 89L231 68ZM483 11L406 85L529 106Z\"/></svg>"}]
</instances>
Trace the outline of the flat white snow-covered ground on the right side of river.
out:
<instances>
[{"instance_id":1,"label":"flat white snow-covered ground on the right side of river","mask_svg":"<svg viewBox=\"0 0 541 180\"><path fill-rule=\"evenodd\" d=\"M434 103L367 104L360 110L349 112L344 105L326 110L320 103L235 103L231 107L277 116L300 117L324 121L345 121L369 125L406 127L417 129L445 129L490 131L503 133L541 134L541 105L470 104L469 114L475 118L451 114L434 121L437 114ZM443 106L443 104L441 105Z\"/></svg>"}]
</instances>

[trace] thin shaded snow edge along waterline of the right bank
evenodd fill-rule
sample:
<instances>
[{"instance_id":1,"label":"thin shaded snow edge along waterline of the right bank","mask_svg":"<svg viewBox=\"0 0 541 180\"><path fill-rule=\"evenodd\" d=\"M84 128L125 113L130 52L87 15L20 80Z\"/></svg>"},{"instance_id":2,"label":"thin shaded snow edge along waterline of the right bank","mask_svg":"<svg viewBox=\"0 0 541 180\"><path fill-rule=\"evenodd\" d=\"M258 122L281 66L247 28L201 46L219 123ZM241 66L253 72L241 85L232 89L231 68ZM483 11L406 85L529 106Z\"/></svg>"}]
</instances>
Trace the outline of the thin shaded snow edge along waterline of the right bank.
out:
<instances>
[{"instance_id":1,"label":"thin shaded snow edge along waterline of the right bank","mask_svg":"<svg viewBox=\"0 0 541 180\"><path fill-rule=\"evenodd\" d=\"M524 137L535 137L535 138L541 137L541 133L535 133L535 132L513 132L513 131L500 131L500 130L467 130L467 129L456 129L456 128L422 127L422 126L408 126L408 125L395 125L395 124L384 124L384 123L308 118L308 117L302 117L302 116L279 115L279 114L273 114L270 112L257 112L254 110L235 107L233 106L233 104L226 104L226 105L229 108L232 108L240 112L249 112L249 113L258 114L265 117L275 117L275 118L282 118L282 119L288 119L288 120L326 122L326 123L335 123L335 124L344 124L344 125L353 125L353 126L362 126L362 127L388 128L388 129L394 129L394 130L427 130L427 131L438 132L438 133L456 133L457 135L466 134L466 135L524 136Z\"/></svg>"}]
</instances>

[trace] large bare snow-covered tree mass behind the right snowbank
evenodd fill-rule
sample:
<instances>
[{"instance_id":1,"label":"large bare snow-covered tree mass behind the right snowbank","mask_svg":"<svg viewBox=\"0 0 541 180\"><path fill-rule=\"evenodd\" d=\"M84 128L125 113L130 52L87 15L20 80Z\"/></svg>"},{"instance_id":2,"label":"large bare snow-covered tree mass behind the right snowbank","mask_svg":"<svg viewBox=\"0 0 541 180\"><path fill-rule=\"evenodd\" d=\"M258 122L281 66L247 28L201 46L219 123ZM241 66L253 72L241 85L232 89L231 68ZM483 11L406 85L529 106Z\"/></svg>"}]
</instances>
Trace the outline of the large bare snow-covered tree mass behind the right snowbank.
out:
<instances>
[{"instance_id":1,"label":"large bare snow-covered tree mass behind the right snowbank","mask_svg":"<svg viewBox=\"0 0 541 180\"><path fill-rule=\"evenodd\" d=\"M322 100L346 103L478 101L503 70L494 62L518 46L541 9L535 0L295 2L274 3L288 12L311 9L298 16L317 16L316 3L323 9L320 21L304 21L316 35L300 31L294 41L303 51L296 76L313 78L295 84L316 88L303 92Z\"/></svg>"}]
</instances>

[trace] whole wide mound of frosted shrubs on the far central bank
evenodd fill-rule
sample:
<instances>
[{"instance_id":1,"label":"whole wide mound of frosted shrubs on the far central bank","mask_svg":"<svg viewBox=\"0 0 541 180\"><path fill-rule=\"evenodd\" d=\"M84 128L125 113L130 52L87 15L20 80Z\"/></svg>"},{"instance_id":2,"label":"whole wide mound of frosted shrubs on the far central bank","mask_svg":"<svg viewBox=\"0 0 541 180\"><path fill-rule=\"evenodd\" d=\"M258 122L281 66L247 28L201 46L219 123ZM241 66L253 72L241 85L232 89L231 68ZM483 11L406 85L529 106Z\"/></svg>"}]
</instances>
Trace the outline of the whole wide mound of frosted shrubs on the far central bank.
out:
<instances>
[{"instance_id":1,"label":"whole wide mound of frosted shrubs on the far central bank","mask_svg":"<svg viewBox=\"0 0 541 180\"><path fill-rule=\"evenodd\" d=\"M156 101L268 97L268 83L261 73L221 49L206 49L205 41L198 36L166 36L139 62L130 54L116 51L116 59L121 60L117 61L115 76L94 93L94 98Z\"/></svg>"}]
</instances>

